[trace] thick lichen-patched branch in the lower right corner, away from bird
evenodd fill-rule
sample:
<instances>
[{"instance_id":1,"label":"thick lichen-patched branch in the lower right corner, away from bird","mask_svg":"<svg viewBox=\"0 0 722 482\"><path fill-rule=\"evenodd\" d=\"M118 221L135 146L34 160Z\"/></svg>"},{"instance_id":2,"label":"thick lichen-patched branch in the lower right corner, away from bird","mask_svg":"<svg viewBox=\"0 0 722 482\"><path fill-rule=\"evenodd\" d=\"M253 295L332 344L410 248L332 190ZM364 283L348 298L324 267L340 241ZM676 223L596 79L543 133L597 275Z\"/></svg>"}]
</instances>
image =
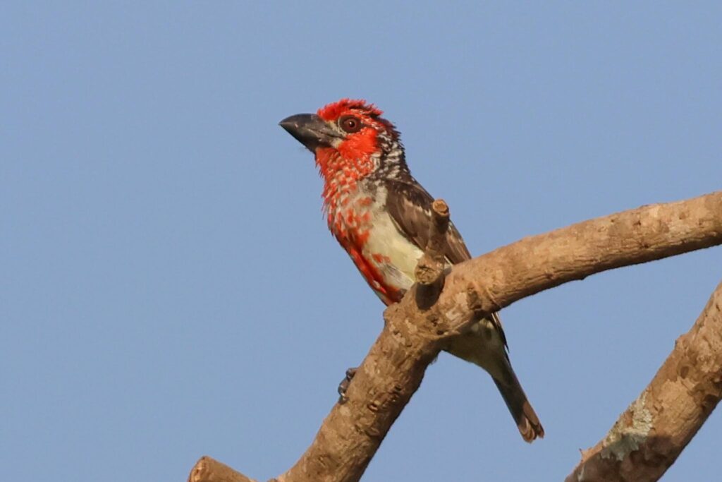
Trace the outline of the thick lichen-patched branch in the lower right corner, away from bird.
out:
<instances>
[{"instance_id":1,"label":"thick lichen-patched branch in the lower right corner, away from bird","mask_svg":"<svg viewBox=\"0 0 722 482\"><path fill-rule=\"evenodd\" d=\"M722 283L687 334L567 482L657 481L722 398Z\"/></svg>"}]
</instances>

